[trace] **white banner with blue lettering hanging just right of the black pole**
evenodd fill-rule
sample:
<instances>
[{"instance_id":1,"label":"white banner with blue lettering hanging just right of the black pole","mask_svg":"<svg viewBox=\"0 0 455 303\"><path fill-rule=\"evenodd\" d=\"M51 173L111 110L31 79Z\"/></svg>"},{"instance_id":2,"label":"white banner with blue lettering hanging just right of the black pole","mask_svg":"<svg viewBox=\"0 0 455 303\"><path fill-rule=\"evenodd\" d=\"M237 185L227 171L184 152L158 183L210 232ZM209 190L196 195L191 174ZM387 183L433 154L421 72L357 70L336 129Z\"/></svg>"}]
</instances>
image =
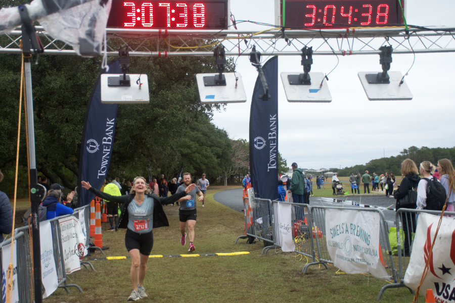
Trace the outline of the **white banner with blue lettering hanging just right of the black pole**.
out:
<instances>
[{"instance_id":1,"label":"white banner with blue lettering hanging just right of the black pole","mask_svg":"<svg viewBox=\"0 0 455 303\"><path fill-rule=\"evenodd\" d=\"M47 298L59 287L57 269L54 259L54 248L52 245L51 222L39 223L39 237L41 246L41 282L44 286L42 298Z\"/></svg>"}]
</instances>

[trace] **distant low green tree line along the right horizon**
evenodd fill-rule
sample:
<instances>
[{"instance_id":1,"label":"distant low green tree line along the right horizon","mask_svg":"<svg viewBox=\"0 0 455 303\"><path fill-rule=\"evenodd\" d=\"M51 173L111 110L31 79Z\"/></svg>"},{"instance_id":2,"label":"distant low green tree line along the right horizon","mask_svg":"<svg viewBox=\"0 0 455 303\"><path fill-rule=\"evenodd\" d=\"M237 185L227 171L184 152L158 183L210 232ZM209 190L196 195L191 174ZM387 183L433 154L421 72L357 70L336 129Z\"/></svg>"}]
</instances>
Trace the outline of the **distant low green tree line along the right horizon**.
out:
<instances>
[{"instance_id":1,"label":"distant low green tree line along the right horizon","mask_svg":"<svg viewBox=\"0 0 455 303\"><path fill-rule=\"evenodd\" d=\"M365 165L355 165L338 170L338 176L347 177L351 172L364 172L366 170L370 173L375 172L376 174L384 174L385 172L393 171L395 175L400 175L401 162L403 162L404 159L413 160L417 166L423 161L430 161L436 165L440 159L449 159L452 164L455 164L455 147L429 148L427 146L422 146L421 148L418 148L416 146L411 146L400 151L400 155L397 155L396 157L392 156L390 158L375 159Z\"/></svg>"}]
</instances>

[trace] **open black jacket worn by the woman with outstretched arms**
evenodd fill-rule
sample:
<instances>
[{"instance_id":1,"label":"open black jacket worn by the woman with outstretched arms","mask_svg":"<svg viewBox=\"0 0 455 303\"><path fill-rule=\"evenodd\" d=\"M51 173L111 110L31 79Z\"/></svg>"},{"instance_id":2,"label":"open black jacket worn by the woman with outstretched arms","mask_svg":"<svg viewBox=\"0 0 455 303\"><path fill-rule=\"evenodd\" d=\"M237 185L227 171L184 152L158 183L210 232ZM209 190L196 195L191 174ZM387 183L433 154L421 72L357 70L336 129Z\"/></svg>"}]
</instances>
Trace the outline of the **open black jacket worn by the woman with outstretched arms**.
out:
<instances>
[{"instance_id":1,"label":"open black jacket worn by the woman with outstretched arms","mask_svg":"<svg viewBox=\"0 0 455 303\"><path fill-rule=\"evenodd\" d=\"M121 214L118 220L117 228L127 228L128 227L128 205L134 198L134 194L129 193L121 196L113 196L108 193L102 192L96 188L90 187L89 189L96 196L99 196L102 199L109 200L111 202L116 202L121 204ZM163 205L175 203L179 198L186 196L185 191L173 194L168 197L159 197L154 193L147 194L148 197L154 199L153 207L153 228L169 226L169 221L167 221L166 214L163 210ZM126 218L126 219L125 219Z\"/></svg>"}]
</instances>

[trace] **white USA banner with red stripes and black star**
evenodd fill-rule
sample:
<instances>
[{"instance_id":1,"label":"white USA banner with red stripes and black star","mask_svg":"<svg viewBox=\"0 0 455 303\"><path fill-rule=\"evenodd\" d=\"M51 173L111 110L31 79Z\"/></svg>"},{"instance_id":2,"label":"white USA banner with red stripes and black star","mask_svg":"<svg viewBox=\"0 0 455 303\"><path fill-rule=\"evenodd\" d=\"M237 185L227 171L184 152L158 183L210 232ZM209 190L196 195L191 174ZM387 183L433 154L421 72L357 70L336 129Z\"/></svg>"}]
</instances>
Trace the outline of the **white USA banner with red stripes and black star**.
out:
<instances>
[{"instance_id":1,"label":"white USA banner with red stripes and black star","mask_svg":"<svg viewBox=\"0 0 455 303\"><path fill-rule=\"evenodd\" d=\"M429 271L425 277L420 294L433 289L436 302L455 302L455 220L443 217L433 252L429 257L431 243L438 226L439 216L420 214L417 221L416 236L409 265L404 275L404 284L417 290L425 264L430 258ZM450 272L451 271L451 272Z\"/></svg>"}]
</instances>

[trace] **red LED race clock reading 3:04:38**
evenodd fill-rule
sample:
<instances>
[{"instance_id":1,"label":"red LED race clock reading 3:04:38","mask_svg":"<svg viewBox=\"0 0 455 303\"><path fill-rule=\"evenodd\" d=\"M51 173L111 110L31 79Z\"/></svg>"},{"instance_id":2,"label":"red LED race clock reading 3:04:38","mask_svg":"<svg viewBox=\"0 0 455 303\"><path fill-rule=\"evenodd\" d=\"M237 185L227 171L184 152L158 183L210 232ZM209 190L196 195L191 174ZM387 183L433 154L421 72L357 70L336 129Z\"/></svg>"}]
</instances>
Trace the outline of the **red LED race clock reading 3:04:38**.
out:
<instances>
[{"instance_id":1,"label":"red LED race clock reading 3:04:38","mask_svg":"<svg viewBox=\"0 0 455 303\"><path fill-rule=\"evenodd\" d=\"M285 26L291 28L400 26L403 22L398 1L286 0Z\"/></svg>"}]
</instances>

